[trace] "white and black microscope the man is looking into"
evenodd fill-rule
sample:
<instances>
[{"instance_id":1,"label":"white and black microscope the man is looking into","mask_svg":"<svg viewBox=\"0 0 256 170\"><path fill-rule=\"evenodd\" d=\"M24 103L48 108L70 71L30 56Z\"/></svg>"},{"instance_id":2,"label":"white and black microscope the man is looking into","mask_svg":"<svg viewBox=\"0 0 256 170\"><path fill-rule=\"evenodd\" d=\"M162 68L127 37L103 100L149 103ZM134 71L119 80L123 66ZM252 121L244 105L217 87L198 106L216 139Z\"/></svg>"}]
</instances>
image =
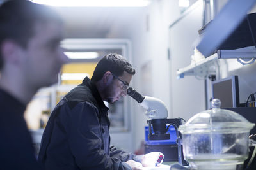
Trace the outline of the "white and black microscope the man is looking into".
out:
<instances>
[{"instance_id":1,"label":"white and black microscope the man is looking into","mask_svg":"<svg viewBox=\"0 0 256 170\"><path fill-rule=\"evenodd\" d=\"M170 134L168 134L168 129L170 125L173 125L177 135L177 145L178 145L178 160L180 165L188 165L186 160L184 160L183 153L182 153L182 145L181 145L181 138L180 133L178 131L179 125L182 124L181 118L167 118L168 111L160 99L149 97L149 96L142 96L140 93L136 92L132 87L127 89L127 94L135 99L143 108L145 108L147 117L150 120L147 120L148 123L148 139L149 140L168 140L170 139ZM152 132L152 129L154 133Z\"/></svg>"}]
</instances>

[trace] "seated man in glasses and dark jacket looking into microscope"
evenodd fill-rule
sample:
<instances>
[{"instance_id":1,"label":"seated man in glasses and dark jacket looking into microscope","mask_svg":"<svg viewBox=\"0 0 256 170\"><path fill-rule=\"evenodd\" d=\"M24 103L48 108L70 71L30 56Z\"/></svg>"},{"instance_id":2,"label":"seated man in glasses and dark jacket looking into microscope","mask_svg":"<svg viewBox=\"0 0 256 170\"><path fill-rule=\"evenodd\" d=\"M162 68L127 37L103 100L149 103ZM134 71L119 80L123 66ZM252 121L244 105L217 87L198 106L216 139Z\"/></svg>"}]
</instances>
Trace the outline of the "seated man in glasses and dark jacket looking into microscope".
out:
<instances>
[{"instance_id":1,"label":"seated man in glasses and dark jacket looking into microscope","mask_svg":"<svg viewBox=\"0 0 256 170\"><path fill-rule=\"evenodd\" d=\"M141 169L155 166L158 152L137 156L110 146L108 108L127 95L135 70L116 53L104 56L91 79L61 99L49 118L39 160L45 169Z\"/></svg>"}]
</instances>

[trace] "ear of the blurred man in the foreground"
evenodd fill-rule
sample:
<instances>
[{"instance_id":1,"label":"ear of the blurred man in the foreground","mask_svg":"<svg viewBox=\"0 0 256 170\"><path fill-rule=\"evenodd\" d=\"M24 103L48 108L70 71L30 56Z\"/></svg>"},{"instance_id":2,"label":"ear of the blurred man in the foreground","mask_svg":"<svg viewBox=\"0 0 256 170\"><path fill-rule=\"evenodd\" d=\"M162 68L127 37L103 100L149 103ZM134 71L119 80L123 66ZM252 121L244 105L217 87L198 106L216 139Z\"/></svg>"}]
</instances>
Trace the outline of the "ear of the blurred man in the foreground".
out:
<instances>
[{"instance_id":1,"label":"ear of the blurred man in the foreground","mask_svg":"<svg viewBox=\"0 0 256 170\"><path fill-rule=\"evenodd\" d=\"M20 61L20 46L12 40L5 40L1 45L1 52L4 62L11 62L12 64L18 64Z\"/></svg>"}]
</instances>

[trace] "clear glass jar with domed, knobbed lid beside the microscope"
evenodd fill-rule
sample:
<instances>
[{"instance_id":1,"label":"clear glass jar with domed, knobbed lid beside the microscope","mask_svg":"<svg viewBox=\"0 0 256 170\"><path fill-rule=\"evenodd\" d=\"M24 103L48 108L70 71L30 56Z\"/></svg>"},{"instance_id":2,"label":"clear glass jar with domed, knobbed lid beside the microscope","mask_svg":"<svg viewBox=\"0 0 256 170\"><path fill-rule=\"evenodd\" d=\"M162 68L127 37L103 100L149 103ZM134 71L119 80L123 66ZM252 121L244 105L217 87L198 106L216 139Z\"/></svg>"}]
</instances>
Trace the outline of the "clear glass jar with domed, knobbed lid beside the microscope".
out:
<instances>
[{"instance_id":1,"label":"clear glass jar with domed, knobbed lid beside the microscope","mask_svg":"<svg viewBox=\"0 0 256 170\"><path fill-rule=\"evenodd\" d=\"M179 127L184 159L192 168L231 170L248 157L248 136L255 124L220 106L220 100L213 99L212 110L197 113Z\"/></svg>"}]
</instances>

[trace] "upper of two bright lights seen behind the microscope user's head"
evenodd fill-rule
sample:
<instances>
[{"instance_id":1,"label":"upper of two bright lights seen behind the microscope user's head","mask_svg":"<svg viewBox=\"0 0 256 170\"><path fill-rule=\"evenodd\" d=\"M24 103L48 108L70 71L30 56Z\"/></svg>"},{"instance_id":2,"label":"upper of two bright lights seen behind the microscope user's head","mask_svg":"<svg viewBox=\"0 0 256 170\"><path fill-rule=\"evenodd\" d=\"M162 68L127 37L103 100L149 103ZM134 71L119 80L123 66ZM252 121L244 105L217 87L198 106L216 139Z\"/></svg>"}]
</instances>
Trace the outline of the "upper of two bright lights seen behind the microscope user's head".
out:
<instances>
[{"instance_id":1,"label":"upper of two bright lights seen behind the microscope user's head","mask_svg":"<svg viewBox=\"0 0 256 170\"><path fill-rule=\"evenodd\" d=\"M97 52L64 52L69 59L96 59L99 57Z\"/></svg>"}]
</instances>

